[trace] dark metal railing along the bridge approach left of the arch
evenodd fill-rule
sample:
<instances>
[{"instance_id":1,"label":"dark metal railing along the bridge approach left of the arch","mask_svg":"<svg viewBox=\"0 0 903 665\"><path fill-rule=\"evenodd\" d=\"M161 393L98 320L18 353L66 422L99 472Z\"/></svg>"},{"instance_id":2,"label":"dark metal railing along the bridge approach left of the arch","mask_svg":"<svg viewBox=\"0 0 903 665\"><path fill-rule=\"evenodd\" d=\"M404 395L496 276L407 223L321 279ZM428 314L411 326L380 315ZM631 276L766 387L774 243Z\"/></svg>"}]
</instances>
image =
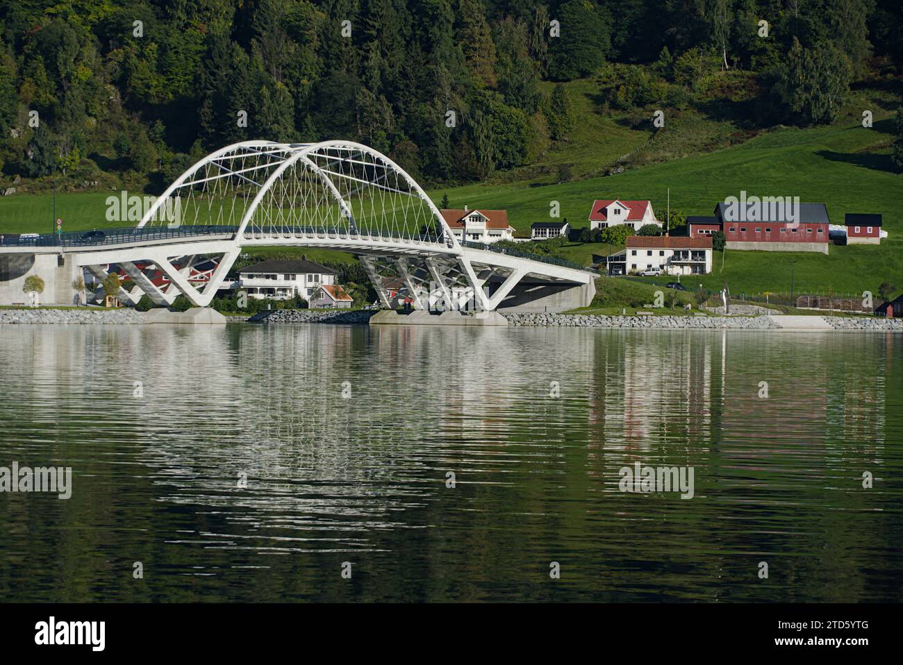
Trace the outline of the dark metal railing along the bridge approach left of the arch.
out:
<instances>
[{"instance_id":1,"label":"dark metal railing along the bridge approach left of the arch","mask_svg":"<svg viewBox=\"0 0 903 665\"><path fill-rule=\"evenodd\" d=\"M144 226L134 228L103 228L93 231L70 231L54 234L4 234L4 247L90 247L92 245L126 245L148 240L168 240L198 236L234 236L237 226Z\"/></svg>"}]
</instances>

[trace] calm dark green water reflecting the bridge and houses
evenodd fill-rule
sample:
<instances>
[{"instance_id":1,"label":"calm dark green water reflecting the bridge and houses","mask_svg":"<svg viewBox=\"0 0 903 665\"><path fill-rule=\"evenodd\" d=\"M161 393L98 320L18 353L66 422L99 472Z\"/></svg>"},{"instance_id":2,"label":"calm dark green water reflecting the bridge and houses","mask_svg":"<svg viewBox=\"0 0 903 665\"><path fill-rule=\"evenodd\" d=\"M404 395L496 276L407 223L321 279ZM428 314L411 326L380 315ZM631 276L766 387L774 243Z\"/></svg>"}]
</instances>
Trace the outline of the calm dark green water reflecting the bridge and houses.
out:
<instances>
[{"instance_id":1,"label":"calm dark green water reflecting the bridge and houses","mask_svg":"<svg viewBox=\"0 0 903 665\"><path fill-rule=\"evenodd\" d=\"M0 600L900 601L901 352L893 334L0 326L0 466L71 466L74 485L0 494ZM693 466L694 498L620 492L637 461Z\"/></svg>"}]
</instances>

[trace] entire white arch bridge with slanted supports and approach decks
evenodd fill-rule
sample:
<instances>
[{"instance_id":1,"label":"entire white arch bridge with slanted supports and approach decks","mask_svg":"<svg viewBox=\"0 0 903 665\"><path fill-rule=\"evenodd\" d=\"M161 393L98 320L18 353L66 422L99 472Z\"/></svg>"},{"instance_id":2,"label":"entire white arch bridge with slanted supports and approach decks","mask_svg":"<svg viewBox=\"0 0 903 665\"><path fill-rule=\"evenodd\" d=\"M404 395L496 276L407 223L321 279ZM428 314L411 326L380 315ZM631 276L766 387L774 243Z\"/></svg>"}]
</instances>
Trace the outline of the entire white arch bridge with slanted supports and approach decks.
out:
<instances>
[{"instance_id":1,"label":"entire white arch bridge with slanted supports and approach decks","mask_svg":"<svg viewBox=\"0 0 903 665\"><path fill-rule=\"evenodd\" d=\"M229 145L182 173L135 228L31 240L3 250L74 254L100 280L119 265L135 284L121 300L146 293L163 306L179 294L209 305L242 247L254 245L355 254L386 307L389 285L414 309L442 309L463 291L474 309L553 311L589 305L595 291L595 273L581 266L460 242L401 167L347 141ZM191 268L211 260L209 281L191 283ZM152 282L157 269L163 286Z\"/></svg>"}]
</instances>

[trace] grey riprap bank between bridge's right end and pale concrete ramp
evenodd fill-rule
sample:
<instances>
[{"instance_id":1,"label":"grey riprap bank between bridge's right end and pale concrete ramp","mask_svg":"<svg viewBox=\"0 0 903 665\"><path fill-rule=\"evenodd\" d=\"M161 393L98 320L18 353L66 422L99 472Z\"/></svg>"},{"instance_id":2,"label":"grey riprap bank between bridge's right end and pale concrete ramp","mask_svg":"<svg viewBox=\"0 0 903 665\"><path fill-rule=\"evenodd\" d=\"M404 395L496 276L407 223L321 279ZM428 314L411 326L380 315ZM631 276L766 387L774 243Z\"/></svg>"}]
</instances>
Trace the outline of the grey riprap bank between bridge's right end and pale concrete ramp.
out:
<instances>
[{"instance_id":1,"label":"grey riprap bank between bridge's right end and pale concrete ramp","mask_svg":"<svg viewBox=\"0 0 903 665\"><path fill-rule=\"evenodd\" d=\"M544 314L501 312L511 326L561 326L571 328L778 328L768 317L605 317L595 314Z\"/></svg>"}]
</instances>

